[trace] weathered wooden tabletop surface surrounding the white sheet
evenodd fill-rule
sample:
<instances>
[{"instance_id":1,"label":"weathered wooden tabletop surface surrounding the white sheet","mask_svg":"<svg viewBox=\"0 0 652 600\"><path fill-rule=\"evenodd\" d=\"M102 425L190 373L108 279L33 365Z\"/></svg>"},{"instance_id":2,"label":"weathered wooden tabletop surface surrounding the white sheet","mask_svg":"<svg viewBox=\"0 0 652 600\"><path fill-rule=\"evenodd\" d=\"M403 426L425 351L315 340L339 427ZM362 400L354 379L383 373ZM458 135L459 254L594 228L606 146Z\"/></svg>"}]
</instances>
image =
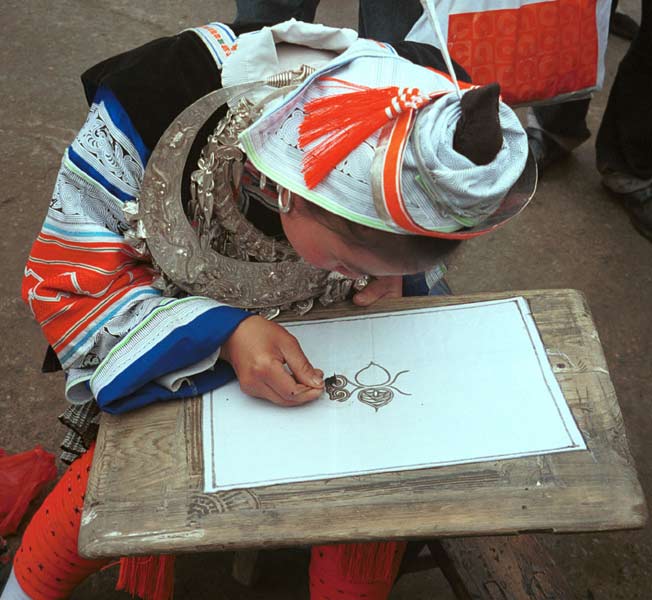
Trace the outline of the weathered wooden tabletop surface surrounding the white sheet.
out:
<instances>
[{"instance_id":1,"label":"weathered wooden tabletop surface surrounding the white sheet","mask_svg":"<svg viewBox=\"0 0 652 600\"><path fill-rule=\"evenodd\" d=\"M516 295L530 303L587 452L205 494L200 400L157 404L103 416L80 532L82 554L642 526L644 496L581 293L404 298L355 310L371 313ZM350 310L315 312L312 318ZM243 451L246 445L242 440Z\"/></svg>"}]
</instances>

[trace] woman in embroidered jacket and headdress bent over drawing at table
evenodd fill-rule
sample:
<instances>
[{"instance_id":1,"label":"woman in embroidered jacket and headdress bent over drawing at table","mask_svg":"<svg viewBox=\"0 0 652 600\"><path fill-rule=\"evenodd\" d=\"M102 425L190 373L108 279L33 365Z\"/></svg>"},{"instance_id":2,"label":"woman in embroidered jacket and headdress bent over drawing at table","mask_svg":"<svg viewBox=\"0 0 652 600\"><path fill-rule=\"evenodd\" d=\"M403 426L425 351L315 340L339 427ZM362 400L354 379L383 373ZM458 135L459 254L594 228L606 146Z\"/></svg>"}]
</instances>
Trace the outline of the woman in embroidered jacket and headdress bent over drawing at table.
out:
<instances>
[{"instance_id":1,"label":"woman in embroidered jacket and headdress bent over drawing at table","mask_svg":"<svg viewBox=\"0 0 652 600\"><path fill-rule=\"evenodd\" d=\"M529 194L506 197L526 164L518 120L496 88L460 101L437 68L428 46L290 21L239 37L213 23L84 74L89 117L64 156L23 284L67 373L62 458L72 465L29 525L2 600L67 597L105 564L76 551L100 409L195 396L234 371L253 396L313 401L319 365L261 313L343 298L369 276L358 305L401 295L408 273L427 272L408 282L427 293L457 240L525 205ZM189 217L175 221L163 167L188 145L187 119L209 93L220 108L195 123L177 174ZM312 597L386 597L402 549L315 549ZM344 562L353 567L333 568ZM153 576L163 584L153 597L169 596L169 563L145 573L125 560L122 587L142 594Z\"/></svg>"}]
</instances>

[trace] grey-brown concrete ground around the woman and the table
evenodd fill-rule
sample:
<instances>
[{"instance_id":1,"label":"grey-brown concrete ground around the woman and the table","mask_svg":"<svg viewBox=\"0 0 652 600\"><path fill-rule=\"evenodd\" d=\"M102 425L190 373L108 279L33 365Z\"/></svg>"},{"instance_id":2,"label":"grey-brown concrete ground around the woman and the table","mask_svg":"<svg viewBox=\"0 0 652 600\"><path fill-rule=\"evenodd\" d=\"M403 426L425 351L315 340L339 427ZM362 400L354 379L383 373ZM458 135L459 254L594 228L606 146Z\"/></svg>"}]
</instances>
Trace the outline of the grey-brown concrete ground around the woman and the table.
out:
<instances>
[{"instance_id":1,"label":"grey-brown concrete ground around the woman and the table","mask_svg":"<svg viewBox=\"0 0 652 600\"><path fill-rule=\"evenodd\" d=\"M324 0L318 18L355 25L356 3ZM621 0L638 16L638 3ZM0 13L0 447L19 452L42 444L56 452L62 427L61 374L42 375L45 341L19 297L23 265L40 228L61 154L82 124L79 74L102 58L193 24L234 14L228 0L4 0ZM610 38L608 90L626 42ZM589 124L597 131L607 99L596 94ZM652 493L652 245L639 236L600 186L592 142L551 168L530 207L508 227L467 242L450 283L458 292L577 288L589 301L627 426L643 487ZM542 535L578 598L649 599L650 527L581 535ZM13 537L15 548L18 538ZM177 598L307 598L307 556L267 553L258 587L229 575L230 555L182 557ZM116 569L91 578L76 600L124 597L112 591ZM437 571L406 577L393 600L451 598Z\"/></svg>"}]
</instances>

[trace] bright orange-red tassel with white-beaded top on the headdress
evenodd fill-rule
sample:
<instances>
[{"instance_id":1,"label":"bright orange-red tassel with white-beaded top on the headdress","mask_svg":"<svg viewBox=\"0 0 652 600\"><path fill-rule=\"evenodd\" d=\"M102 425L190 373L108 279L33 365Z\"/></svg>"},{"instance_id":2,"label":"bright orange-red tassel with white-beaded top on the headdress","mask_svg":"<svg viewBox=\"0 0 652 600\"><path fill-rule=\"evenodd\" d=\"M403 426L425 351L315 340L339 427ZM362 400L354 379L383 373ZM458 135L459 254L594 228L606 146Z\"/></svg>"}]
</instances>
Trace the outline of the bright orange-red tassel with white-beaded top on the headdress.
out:
<instances>
[{"instance_id":1,"label":"bright orange-red tassel with white-beaded top on the headdress","mask_svg":"<svg viewBox=\"0 0 652 600\"><path fill-rule=\"evenodd\" d=\"M308 102L299 126L299 147L305 148L323 138L303 158L302 170L308 188L314 188L388 121L429 101L416 88L392 86L366 88Z\"/></svg>"}]
</instances>

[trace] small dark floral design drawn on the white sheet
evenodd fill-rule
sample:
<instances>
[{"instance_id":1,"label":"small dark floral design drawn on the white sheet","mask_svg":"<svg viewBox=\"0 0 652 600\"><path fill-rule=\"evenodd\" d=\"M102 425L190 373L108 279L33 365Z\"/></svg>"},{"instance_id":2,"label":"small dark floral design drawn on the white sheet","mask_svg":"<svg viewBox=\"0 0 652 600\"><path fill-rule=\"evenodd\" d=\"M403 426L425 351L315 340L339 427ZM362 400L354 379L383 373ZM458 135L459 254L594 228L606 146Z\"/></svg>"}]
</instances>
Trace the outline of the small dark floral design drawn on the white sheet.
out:
<instances>
[{"instance_id":1,"label":"small dark floral design drawn on the white sheet","mask_svg":"<svg viewBox=\"0 0 652 600\"><path fill-rule=\"evenodd\" d=\"M394 392L398 392L403 396L412 395L394 385L403 373L409 373L409 371L399 371L392 378L385 367L372 361L355 374L354 381L349 381L347 377L340 373L335 373L332 377L326 378L326 392L328 397L336 402L346 402L357 392L358 400L373 407L377 412L379 408L389 404L394 399ZM349 389L349 386L352 386L352 389Z\"/></svg>"}]
</instances>

